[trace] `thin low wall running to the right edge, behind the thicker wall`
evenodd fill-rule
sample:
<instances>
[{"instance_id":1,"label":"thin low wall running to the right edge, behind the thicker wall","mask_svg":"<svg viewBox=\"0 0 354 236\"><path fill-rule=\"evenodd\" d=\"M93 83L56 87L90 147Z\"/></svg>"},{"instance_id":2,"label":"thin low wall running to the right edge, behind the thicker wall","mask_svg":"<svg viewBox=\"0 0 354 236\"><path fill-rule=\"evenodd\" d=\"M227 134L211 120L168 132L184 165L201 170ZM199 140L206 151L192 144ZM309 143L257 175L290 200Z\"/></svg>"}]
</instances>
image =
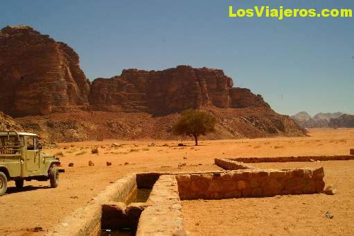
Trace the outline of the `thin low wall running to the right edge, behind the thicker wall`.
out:
<instances>
[{"instance_id":1,"label":"thin low wall running to the right edge, behind the thicker wall","mask_svg":"<svg viewBox=\"0 0 354 236\"><path fill-rule=\"evenodd\" d=\"M269 158L227 158L236 162L259 163L259 162L313 162L327 160L354 160L354 155L306 155L306 156L285 156Z\"/></svg>"}]
</instances>

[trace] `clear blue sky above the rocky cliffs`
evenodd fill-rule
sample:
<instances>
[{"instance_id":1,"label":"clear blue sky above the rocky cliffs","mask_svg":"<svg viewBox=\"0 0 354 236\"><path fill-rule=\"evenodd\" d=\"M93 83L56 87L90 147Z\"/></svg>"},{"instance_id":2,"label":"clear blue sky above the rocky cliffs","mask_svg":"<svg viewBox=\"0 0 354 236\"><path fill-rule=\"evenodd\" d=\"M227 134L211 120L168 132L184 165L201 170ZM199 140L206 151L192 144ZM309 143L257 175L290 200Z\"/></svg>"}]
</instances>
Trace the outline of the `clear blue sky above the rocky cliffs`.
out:
<instances>
[{"instance_id":1,"label":"clear blue sky above the rocky cliffs","mask_svg":"<svg viewBox=\"0 0 354 236\"><path fill-rule=\"evenodd\" d=\"M354 17L231 18L229 6L354 9L354 1L1 0L0 28L26 24L66 42L90 80L210 67L281 114L354 113Z\"/></svg>"}]
</instances>

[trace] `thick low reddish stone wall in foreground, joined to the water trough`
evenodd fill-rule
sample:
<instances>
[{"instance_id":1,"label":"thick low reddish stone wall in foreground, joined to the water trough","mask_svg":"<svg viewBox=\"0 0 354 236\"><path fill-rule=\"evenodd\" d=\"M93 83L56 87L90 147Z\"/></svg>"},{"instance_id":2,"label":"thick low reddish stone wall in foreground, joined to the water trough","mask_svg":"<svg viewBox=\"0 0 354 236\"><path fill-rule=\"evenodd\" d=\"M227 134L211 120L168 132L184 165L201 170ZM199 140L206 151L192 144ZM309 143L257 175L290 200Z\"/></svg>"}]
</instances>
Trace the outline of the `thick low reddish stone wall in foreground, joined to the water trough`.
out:
<instances>
[{"instance_id":1,"label":"thick low reddish stone wall in foreground, joined to the water trough","mask_svg":"<svg viewBox=\"0 0 354 236\"><path fill-rule=\"evenodd\" d=\"M244 169L228 173L177 175L179 197L230 199L283 194L315 194L324 190L324 169Z\"/></svg>"}]
</instances>

